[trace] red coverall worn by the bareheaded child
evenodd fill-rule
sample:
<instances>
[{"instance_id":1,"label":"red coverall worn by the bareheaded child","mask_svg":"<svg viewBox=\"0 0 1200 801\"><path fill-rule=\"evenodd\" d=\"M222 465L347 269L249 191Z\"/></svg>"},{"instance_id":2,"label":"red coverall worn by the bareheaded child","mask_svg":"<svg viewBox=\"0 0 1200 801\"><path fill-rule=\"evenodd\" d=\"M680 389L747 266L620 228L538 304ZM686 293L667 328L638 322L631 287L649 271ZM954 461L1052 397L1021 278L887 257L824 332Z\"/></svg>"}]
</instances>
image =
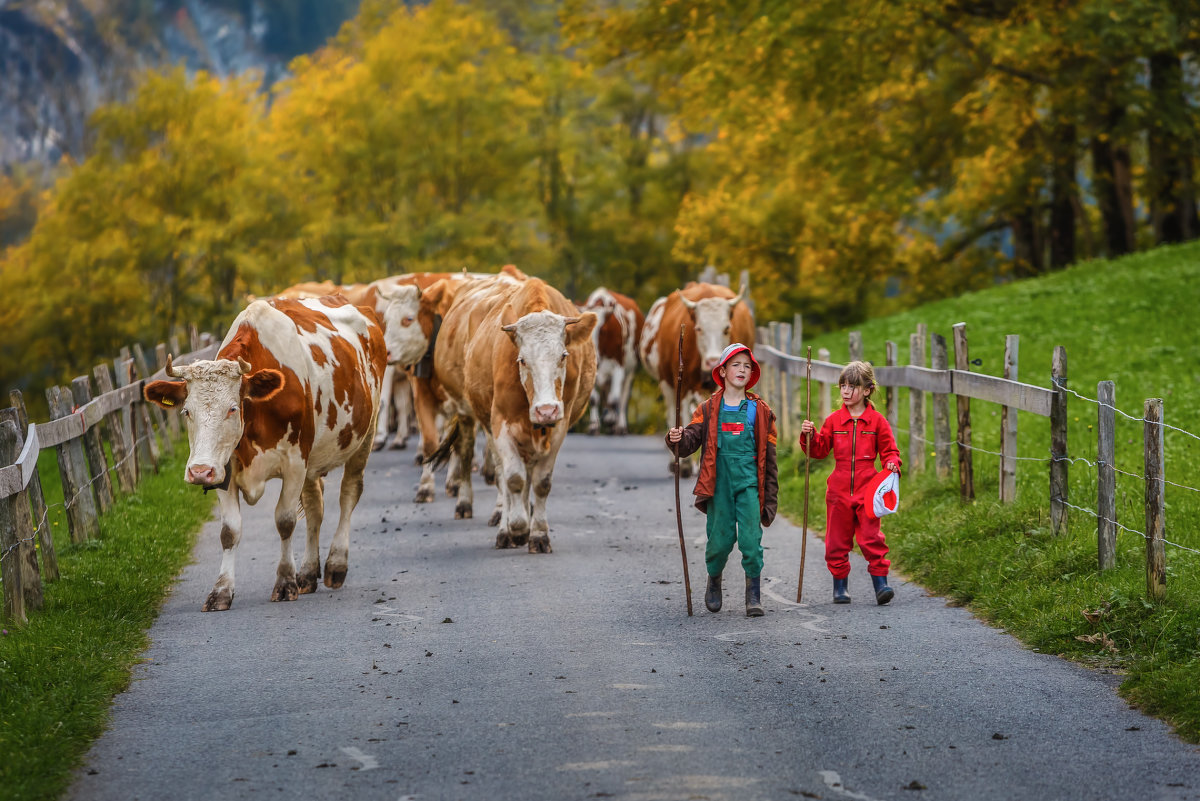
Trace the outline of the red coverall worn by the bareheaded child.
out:
<instances>
[{"instance_id":1,"label":"red coverall worn by the bareheaded child","mask_svg":"<svg viewBox=\"0 0 1200 801\"><path fill-rule=\"evenodd\" d=\"M858 540L858 549L866 558L866 572L887 576L892 566L888 544L880 531L878 518L868 512L862 492L878 472L876 456L882 464L895 462L900 465L900 451L887 417L870 402L857 418L841 408L829 415L812 436L811 451L805 447L806 439L800 436L800 448L810 458L823 459L833 451L835 460L826 492L826 565L829 572L834 578L850 576L850 549Z\"/></svg>"}]
</instances>

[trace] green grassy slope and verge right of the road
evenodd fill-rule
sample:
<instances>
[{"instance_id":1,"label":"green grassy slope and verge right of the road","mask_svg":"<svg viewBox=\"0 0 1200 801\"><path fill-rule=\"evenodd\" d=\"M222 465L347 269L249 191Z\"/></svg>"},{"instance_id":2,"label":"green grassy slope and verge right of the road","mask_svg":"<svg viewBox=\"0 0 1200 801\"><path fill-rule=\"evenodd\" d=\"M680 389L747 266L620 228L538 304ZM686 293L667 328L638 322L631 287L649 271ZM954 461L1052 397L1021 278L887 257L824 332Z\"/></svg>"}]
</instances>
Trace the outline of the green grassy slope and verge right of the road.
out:
<instances>
[{"instance_id":1,"label":"green grassy slope and verge right of the road","mask_svg":"<svg viewBox=\"0 0 1200 801\"><path fill-rule=\"evenodd\" d=\"M1200 353L1193 345L1192 321L1200 296L1200 245L1159 248L1115 261L1091 261L1069 270L929 303L886 319L871 320L862 331L865 359L884 363L884 343L898 343L907 362L908 335L918 323L946 336L953 349L952 326L967 324L977 372L1002 373L1004 337L1020 335L1020 380L1050 386L1050 360L1056 345L1067 351L1068 386L1097 397L1097 383L1116 383L1116 405L1142 417L1146 398L1163 398L1164 422L1200 434ZM814 355L828 348L832 360L848 357L847 331L815 337ZM928 345L926 345L928 353ZM814 356L815 357L815 356ZM953 355L952 355L953 361ZM796 397L804 404L804 384ZM817 416L814 385L814 417ZM834 389L834 406L838 404ZM876 406L883 410L882 391ZM952 422L954 402L950 402ZM932 410L926 402L932 441ZM1000 450L1000 406L971 404L973 445ZM817 421L820 424L820 421ZM901 454L908 460L908 402L900 393ZM1097 405L1076 397L1068 402L1068 454L1097 459ZM1117 415L1116 466L1144 474L1144 423ZM883 522L892 548L893 571L914 579L950 603L1003 627L1028 648L1057 654L1098 669L1123 675L1121 694L1147 713L1175 727L1190 742L1200 742L1200 440L1165 430L1166 480L1166 600L1152 603L1146 591L1145 540L1118 530L1117 567L1102 573L1097 564L1097 520L1068 512L1068 530L1050 532L1049 421L1019 415L1018 500L997 502L998 459L974 453L976 498L959 500L956 453L948 480L934 475L932 453L920 475L906 471L900 513ZM931 451L931 448L930 448ZM824 480L832 460L810 465L809 526L824 526ZM1070 465L1069 501L1094 510L1096 469ZM781 508L800 523L804 505L803 456L780 450ZM1146 530L1145 482L1117 475L1117 520ZM822 559L818 552L814 555ZM874 603L869 579L851 577L856 603ZM857 590L857 595L856 595ZM805 588L810 603L829 600L830 586ZM904 595L893 602L904 614ZM1094 622L1090 622L1084 613ZM1080 638L1088 638L1087 640Z\"/></svg>"}]
</instances>

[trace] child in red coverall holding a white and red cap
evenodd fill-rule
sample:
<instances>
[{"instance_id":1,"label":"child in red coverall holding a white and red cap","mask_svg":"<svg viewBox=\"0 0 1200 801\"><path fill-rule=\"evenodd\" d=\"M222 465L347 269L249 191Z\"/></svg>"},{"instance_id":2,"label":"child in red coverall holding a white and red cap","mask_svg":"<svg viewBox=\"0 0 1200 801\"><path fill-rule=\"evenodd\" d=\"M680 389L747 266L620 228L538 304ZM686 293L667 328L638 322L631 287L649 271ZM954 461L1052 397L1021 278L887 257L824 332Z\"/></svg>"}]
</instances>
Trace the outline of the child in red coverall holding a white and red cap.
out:
<instances>
[{"instance_id":1,"label":"child in red coverall holding a white and red cap","mask_svg":"<svg viewBox=\"0 0 1200 801\"><path fill-rule=\"evenodd\" d=\"M875 602L883 606L895 595L888 586L888 543L880 531L865 498L865 488L876 476L875 458L892 472L900 472L896 448L887 417L871 405L875 371L866 362L850 362L838 378L841 409L829 415L821 433L811 420L800 424L800 448L811 459L823 459L833 451L834 468L826 492L826 565L833 573L833 602L850 603L850 549L866 558L866 572L875 585ZM811 445L808 445L811 440Z\"/></svg>"}]
</instances>

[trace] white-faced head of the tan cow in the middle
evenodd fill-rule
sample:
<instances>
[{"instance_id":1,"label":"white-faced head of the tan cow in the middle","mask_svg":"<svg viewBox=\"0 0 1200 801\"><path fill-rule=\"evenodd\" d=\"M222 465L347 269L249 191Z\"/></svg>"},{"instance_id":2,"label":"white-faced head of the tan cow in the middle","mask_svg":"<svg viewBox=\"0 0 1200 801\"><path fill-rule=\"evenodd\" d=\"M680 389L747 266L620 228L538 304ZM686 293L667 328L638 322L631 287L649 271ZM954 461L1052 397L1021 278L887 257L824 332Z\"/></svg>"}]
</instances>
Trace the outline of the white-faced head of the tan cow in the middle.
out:
<instances>
[{"instance_id":1,"label":"white-faced head of the tan cow in the middle","mask_svg":"<svg viewBox=\"0 0 1200 801\"><path fill-rule=\"evenodd\" d=\"M529 401L529 421L534 426L553 426L563 418L563 384L570 348L592 337L596 315L584 312L580 317L563 317L544 311L515 318L512 307L506 307L503 331L517 349L521 386Z\"/></svg>"}]
</instances>

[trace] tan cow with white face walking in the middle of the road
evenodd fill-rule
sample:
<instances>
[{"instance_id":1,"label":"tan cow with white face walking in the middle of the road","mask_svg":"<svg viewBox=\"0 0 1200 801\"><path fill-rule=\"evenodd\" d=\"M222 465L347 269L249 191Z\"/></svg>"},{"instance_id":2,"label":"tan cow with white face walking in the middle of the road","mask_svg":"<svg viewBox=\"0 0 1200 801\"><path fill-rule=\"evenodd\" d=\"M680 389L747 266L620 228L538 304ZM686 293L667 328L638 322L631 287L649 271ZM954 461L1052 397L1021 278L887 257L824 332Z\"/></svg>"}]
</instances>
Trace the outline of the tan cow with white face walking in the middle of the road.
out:
<instances>
[{"instance_id":1,"label":"tan cow with white face walking in the middle of the road","mask_svg":"<svg viewBox=\"0 0 1200 801\"><path fill-rule=\"evenodd\" d=\"M433 369L455 417L432 459L458 453L458 514L473 501L476 423L487 432L497 458L497 548L552 550L546 498L558 450L595 381L595 324L594 312L578 314L546 282L503 275L461 287L442 321Z\"/></svg>"}]
</instances>

